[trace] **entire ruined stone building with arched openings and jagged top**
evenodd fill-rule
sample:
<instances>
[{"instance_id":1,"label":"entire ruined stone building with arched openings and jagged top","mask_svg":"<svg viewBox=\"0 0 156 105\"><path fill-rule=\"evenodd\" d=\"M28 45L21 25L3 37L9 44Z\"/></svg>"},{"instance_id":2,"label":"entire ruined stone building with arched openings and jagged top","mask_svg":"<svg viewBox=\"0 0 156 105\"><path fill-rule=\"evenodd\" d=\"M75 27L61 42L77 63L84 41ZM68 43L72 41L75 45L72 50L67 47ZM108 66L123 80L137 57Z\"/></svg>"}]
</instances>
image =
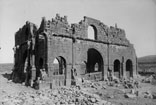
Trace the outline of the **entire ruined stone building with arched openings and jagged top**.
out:
<instances>
[{"instance_id":1,"label":"entire ruined stone building with arched openings and jagged top","mask_svg":"<svg viewBox=\"0 0 156 105\"><path fill-rule=\"evenodd\" d=\"M125 31L86 16L71 25L58 14L52 20L43 18L39 28L26 22L15 34L14 52L13 79L20 82L25 73L37 80L40 69L53 86L70 86L73 72L87 80L104 80L108 71L117 78L135 77L137 71L135 49Z\"/></svg>"}]
</instances>

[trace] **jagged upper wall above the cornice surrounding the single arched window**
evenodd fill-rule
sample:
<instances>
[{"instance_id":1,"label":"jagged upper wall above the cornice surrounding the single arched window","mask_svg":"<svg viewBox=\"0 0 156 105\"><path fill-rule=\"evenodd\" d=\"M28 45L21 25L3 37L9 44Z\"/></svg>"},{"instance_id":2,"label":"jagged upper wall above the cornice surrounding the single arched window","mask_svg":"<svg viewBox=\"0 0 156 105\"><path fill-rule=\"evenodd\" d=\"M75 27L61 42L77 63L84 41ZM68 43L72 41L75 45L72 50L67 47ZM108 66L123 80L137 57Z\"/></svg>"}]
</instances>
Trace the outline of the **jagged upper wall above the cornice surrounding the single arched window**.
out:
<instances>
[{"instance_id":1,"label":"jagged upper wall above the cornice surrounding the single arched window","mask_svg":"<svg viewBox=\"0 0 156 105\"><path fill-rule=\"evenodd\" d=\"M125 31L118 28L117 26L108 27L101 21L84 17L84 20L80 21L78 24L72 24L72 30L75 37L88 39L88 27L93 27L96 35L95 41L100 41L104 43L116 44L116 45L129 45L129 41L125 37Z\"/></svg>"}]
</instances>

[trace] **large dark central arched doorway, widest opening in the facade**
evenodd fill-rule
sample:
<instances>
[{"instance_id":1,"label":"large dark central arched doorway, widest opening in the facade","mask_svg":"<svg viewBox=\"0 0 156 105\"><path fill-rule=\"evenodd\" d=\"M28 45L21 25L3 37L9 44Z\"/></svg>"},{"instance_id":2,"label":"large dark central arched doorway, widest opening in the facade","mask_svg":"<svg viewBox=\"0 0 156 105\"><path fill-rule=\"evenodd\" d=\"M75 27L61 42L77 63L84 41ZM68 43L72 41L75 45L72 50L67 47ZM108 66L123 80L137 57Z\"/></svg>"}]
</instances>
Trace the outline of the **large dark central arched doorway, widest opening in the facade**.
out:
<instances>
[{"instance_id":1,"label":"large dark central arched doorway, widest opening in the facade","mask_svg":"<svg viewBox=\"0 0 156 105\"><path fill-rule=\"evenodd\" d=\"M103 64L101 54L96 49L90 48L87 52L87 73L95 74L94 76L97 76L95 77L96 79L102 79Z\"/></svg>"}]
</instances>

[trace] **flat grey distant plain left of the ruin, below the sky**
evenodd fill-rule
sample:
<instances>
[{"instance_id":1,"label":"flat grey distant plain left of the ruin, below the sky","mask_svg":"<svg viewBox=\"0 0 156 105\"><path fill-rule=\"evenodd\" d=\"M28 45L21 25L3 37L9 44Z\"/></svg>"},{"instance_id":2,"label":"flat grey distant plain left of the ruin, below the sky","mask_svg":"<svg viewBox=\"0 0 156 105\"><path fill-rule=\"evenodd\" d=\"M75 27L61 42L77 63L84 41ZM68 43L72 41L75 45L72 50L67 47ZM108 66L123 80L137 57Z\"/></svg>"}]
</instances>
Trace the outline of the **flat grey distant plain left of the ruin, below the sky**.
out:
<instances>
[{"instance_id":1,"label":"flat grey distant plain left of the ruin, below the sky","mask_svg":"<svg viewBox=\"0 0 156 105\"><path fill-rule=\"evenodd\" d=\"M13 63L1 63L0 72L11 71L13 68Z\"/></svg>"}]
</instances>

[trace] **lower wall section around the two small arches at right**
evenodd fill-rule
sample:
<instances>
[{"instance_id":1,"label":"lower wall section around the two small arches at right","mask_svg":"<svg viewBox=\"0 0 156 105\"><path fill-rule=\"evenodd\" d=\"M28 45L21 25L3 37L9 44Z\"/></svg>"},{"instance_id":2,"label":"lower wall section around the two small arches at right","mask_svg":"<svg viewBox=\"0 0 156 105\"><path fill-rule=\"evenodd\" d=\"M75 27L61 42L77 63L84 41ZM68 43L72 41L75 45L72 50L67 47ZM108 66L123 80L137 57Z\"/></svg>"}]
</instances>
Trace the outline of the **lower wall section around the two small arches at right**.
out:
<instances>
[{"instance_id":1,"label":"lower wall section around the two small arches at right","mask_svg":"<svg viewBox=\"0 0 156 105\"><path fill-rule=\"evenodd\" d=\"M120 73L123 72L123 74L120 75L120 77L127 77L126 75L126 61L131 60L132 66L133 66L133 77L136 75L136 55L134 52L133 47L126 47L126 46L116 46L116 45L110 45L109 46L109 55L111 56L109 58L109 64L110 69L114 70L114 61L119 60L121 65L120 67Z\"/></svg>"}]
</instances>

